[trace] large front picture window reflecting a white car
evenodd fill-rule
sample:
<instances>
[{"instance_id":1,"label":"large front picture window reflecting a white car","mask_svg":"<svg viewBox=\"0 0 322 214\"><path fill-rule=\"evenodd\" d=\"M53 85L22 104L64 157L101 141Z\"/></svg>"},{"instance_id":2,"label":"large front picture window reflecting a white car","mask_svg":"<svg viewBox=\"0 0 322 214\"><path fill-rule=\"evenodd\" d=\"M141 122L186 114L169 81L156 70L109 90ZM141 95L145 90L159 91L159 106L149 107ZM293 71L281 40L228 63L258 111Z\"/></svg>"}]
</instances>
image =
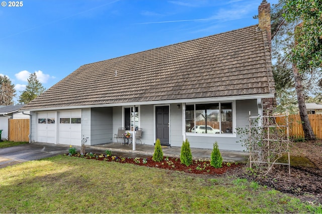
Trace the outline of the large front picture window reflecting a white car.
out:
<instances>
[{"instance_id":1,"label":"large front picture window reflecting a white car","mask_svg":"<svg viewBox=\"0 0 322 214\"><path fill-rule=\"evenodd\" d=\"M232 134L232 102L186 105L186 132Z\"/></svg>"}]
</instances>

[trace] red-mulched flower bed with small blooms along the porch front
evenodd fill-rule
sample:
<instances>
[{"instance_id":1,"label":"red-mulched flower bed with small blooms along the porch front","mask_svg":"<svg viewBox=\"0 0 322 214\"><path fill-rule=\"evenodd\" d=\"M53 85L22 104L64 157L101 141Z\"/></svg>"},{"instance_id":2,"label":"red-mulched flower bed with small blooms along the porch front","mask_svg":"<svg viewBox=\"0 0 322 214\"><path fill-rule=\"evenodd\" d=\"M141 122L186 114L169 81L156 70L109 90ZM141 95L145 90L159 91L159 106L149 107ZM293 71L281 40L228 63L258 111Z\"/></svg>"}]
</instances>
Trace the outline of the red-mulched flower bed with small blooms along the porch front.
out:
<instances>
[{"instance_id":1,"label":"red-mulched flower bed with small blooms along the porch front","mask_svg":"<svg viewBox=\"0 0 322 214\"><path fill-rule=\"evenodd\" d=\"M122 157L122 156L113 156L109 154L95 154L95 153L86 153L81 154L76 152L75 154L66 154L74 157L81 157L87 159L101 160L101 161L115 161L119 163L131 163L141 166L149 166L156 168L163 168L169 170L179 170L195 174L223 174L227 170L232 170L236 167L241 167L243 164L225 162L222 164L221 168L214 168L210 166L210 160L193 160L193 164L186 166L180 162L180 158L175 157L164 157L163 161L155 162L152 160L152 157L139 158L139 157Z\"/></svg>"}]
</instances>

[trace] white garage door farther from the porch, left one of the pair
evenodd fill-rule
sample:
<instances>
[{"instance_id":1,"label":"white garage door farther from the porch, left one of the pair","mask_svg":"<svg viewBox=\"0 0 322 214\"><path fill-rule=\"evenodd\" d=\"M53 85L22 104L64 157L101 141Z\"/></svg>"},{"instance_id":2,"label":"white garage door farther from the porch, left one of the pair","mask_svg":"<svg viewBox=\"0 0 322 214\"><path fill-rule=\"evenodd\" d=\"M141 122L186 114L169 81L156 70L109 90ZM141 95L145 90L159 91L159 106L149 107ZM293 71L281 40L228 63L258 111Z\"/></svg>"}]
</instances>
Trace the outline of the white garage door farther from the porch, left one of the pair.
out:
<instances>
[{"instance_id":1,"label":"white garage door farther from the porch, left one of the pair","mask_svg":"<svg viewBox=\"0 0 322 214\"><path fill-rule=\"evenodd\" d=\"M38 112L37 142L56 142L56 112Z\"/></svg>"}]
</instances>

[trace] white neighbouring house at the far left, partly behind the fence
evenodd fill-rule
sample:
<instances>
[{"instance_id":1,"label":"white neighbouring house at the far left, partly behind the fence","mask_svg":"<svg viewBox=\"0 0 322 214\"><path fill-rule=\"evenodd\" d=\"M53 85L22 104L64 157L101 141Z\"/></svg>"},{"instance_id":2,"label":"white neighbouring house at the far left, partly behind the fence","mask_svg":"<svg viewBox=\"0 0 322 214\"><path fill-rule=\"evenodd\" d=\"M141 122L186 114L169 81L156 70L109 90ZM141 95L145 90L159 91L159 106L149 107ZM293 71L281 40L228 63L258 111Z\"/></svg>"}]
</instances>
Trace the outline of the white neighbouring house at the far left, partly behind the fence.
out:
<instances>
[{"instance_id":1,"label":"white neighbouring house at the far left, partly behind the fence","mask_svg":"<svg viewBox=\"0 0 322 214\"><path fill-rule=\"evenodd\" d=\"M2 130L0 140L8 140L9 119L29 119L28 115L18 111L23 106L23 104L0 106L0 130Z\"/></svg>"}]
</instances>

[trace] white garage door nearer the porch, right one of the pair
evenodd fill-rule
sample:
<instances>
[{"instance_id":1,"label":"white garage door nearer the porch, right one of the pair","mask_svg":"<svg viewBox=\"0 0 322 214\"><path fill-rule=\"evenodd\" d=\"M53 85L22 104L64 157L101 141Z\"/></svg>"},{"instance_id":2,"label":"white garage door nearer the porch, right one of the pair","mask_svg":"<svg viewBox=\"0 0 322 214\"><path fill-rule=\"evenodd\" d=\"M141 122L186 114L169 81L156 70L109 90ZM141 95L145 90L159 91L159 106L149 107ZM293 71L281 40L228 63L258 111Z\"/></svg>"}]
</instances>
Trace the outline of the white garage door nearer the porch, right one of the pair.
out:
<instances>
[{"instance_id":1,"label":"white garage door nearer the porch, right one of the pair","mask_svg":"<svg viewBox=\"0 0 322 214\"><path fill-rule=\"evenodd\" d=\"M80 146L82 143L82 111L60 111L58 129L58 143Z\"/></svg>"}]
</instances>

